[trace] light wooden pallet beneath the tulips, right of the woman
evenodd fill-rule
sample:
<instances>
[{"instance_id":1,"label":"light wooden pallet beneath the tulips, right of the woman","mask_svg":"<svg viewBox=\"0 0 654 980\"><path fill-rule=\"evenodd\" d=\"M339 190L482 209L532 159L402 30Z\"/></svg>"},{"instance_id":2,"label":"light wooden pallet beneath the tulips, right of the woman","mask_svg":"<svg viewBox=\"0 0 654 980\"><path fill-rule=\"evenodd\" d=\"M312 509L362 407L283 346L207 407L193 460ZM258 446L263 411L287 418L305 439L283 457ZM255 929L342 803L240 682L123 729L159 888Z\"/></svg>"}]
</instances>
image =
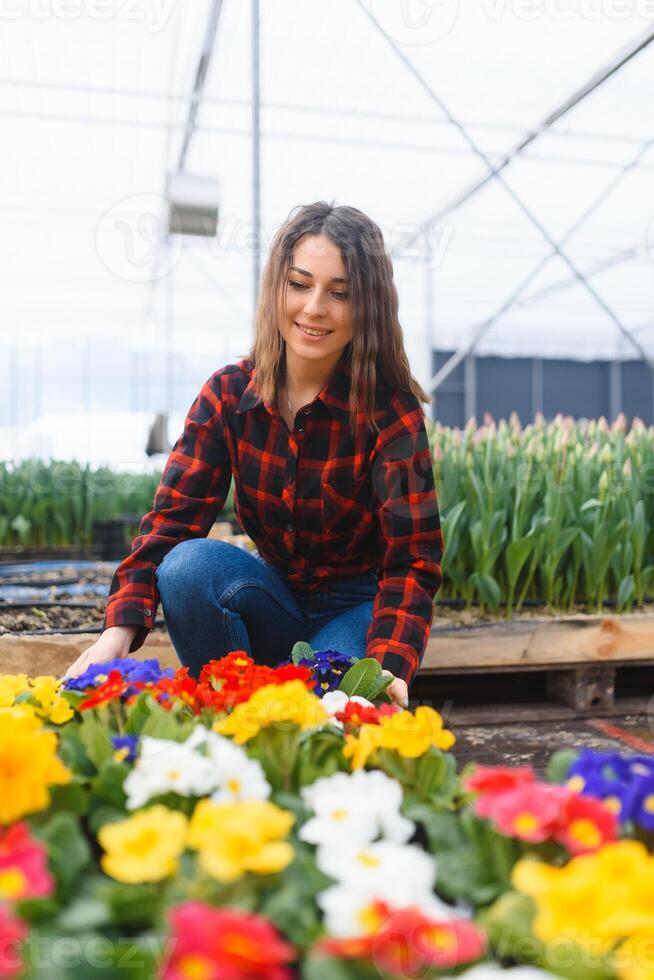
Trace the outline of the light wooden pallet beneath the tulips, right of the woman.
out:
<instances>
[{"instance_id":1,"label":"light wooden pallet beneath the tulips, right of the woman","mask_svg":"<svg viewBox=\"0 0 654 980\"><path fill-rule=\"evenodd\" d=\"M632 614L435 628L411 695L477 724L647 711L653 691L654 615Z\"/></svg>"}]
</instances>

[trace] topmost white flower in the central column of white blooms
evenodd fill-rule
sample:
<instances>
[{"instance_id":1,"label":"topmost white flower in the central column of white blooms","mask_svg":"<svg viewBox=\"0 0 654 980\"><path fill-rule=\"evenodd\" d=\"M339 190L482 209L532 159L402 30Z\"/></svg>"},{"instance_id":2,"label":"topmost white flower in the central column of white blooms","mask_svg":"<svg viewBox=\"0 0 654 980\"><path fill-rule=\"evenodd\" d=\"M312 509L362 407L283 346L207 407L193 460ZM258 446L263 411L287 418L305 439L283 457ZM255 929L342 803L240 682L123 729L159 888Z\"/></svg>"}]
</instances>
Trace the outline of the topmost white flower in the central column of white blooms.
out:
<instances>
[{"instance_id":1,"label":"topmost white flower in the central column of white blooms","mask_svg":"<svg viewBox=\"0 0 654 980\"><path fill-rule=\"evenodd\" d=\"M301 795L315 813L299 832L310 844L364 844L379 836L404 843L415 830L400 813L401 785L380 770L335 773Z\"/></svg>"}]
</instances>

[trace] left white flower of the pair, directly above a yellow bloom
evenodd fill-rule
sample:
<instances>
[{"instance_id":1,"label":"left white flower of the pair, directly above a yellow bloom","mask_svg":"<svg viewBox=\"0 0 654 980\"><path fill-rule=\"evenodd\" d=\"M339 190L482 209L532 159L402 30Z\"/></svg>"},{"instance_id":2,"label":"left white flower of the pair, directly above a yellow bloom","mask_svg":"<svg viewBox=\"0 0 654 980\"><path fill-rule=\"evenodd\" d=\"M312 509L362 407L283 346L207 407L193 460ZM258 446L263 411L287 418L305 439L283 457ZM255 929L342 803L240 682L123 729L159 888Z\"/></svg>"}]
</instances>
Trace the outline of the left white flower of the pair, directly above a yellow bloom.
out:
<instances>
[{"instance_id":1,"label":"left white flower of the pair, directly above a yellow bloom","mask_svg":"<svg viewBox=\"0 0 654 980\"><path fill-rule=\"evenodd\" d=\"M141 739L139 757L123 788L127 794L127 809L135 810L162 793L204 796L215 785L210 759L180 742L145 735Z\"/></svg>"}]
</instances>

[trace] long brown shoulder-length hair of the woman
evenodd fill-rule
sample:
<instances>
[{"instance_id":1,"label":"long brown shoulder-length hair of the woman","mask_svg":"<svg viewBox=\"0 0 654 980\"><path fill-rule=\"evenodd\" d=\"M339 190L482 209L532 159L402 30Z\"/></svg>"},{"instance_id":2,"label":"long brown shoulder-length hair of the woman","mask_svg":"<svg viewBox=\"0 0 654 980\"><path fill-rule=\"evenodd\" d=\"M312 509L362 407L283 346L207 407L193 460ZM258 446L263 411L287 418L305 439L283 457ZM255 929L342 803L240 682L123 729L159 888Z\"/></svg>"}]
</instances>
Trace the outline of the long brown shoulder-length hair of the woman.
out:
<instances>
[{"instance_id":1,"label":"long brown shoulder-length hair of the woman","mask_svg":"<svg viewBox=\"0 0 654 980\"><path fill-rule=\"evenodd\" d=\"M262 402L271 404L285 365L279 323L285 315L286 283L293 249L304 235L325 235L341 252L350 280L353 334L350 350L350 427L354 433L360 400L366 421L375 432L375 389L378 381L412 392L419 401L432 399L411 374L398 318L399 300L393 263L379 227L363 211L327 201L298 205L273 238L264 266L249 357L256 367Z\"/></svg>"}]
</instances>

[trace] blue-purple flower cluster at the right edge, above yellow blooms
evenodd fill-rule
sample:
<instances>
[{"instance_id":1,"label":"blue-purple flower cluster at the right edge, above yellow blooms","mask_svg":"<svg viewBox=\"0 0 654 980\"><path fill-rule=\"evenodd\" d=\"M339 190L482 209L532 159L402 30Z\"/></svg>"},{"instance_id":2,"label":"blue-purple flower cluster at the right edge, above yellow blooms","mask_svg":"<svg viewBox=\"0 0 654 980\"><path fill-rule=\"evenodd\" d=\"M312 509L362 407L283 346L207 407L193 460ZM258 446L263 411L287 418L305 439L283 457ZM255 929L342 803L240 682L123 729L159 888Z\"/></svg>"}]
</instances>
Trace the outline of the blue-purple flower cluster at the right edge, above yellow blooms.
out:
<instances>
[{"instance_id":1,"label":"blue-purple flower cluster at the right edge, above yellow blooms","mask_svg":"<svg viewBox=\"0 0 654 980\"><path fill-rule=\"evenodd\" d=\"M601 799L620 822L631 820L654 830L654 755L582 749L568 769L566 785L583 796Z\"/></svg>"}]
</instances>

